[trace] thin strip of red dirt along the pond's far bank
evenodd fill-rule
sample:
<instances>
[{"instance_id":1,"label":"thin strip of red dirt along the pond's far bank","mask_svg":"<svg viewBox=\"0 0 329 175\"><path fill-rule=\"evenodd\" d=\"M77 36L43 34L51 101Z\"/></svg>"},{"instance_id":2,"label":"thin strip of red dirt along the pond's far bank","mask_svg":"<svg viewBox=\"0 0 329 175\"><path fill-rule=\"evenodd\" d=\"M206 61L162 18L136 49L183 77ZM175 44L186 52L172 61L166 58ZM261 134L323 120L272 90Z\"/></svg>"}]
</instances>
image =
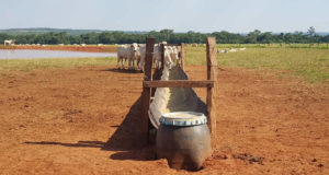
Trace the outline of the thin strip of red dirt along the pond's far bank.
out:
<instances>
[{"instance_id":1,"label":"thin strip of red dirt along the pond's far bank","mask_svg":"<svg viewBox=\"0 0 329 175\"><path fill-rule=\"evenodd\" d=\"M68 50L87 52L116 52L116 46L0 46L0 49L38 49L38 50Z\"/></svg>"}]
</instances>

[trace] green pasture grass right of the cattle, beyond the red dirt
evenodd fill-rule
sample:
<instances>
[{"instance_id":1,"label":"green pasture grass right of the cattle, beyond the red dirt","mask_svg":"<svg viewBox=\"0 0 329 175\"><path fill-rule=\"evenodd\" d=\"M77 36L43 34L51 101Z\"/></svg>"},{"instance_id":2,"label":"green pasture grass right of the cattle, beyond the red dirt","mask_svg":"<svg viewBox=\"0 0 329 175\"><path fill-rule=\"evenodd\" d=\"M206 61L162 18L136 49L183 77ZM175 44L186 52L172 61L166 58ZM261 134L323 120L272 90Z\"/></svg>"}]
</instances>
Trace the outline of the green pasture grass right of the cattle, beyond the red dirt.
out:
<instances>
[{"instance_id":1,"label":"green pasture grass right of the cattle, beyond the red dirt","mask_svg":"<svg viewBox=\"0 0 329 175\"><path fill-rule=\"evenodd\" d=\"M220 48L219 48L220 49ZM186 65L206 65L205 48L186 47ZM247 48L245 51L217 55L218 66L259 70L287 70L308 82L329 79L329 49L313 48Z\"/></svg>"}]
</instances>

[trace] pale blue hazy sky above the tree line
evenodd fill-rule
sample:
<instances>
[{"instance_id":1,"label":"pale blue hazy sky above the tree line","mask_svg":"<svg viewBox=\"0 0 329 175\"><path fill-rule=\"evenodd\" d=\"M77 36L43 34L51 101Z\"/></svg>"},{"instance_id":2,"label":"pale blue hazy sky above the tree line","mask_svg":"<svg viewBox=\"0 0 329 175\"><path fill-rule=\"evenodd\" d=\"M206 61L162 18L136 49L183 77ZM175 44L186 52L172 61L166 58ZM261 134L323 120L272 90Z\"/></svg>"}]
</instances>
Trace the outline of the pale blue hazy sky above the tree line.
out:
<instances>
[{"instance_id":1,"label":"pale blue hazy sky above the tree line","mask_svg":"<svg viewBox=\"0 0 329 175\"><path fill-rule=\"evenodd\" d=\"M0 0L0 28L329 32L329 0Z\"/></svg>"}]
</instances>

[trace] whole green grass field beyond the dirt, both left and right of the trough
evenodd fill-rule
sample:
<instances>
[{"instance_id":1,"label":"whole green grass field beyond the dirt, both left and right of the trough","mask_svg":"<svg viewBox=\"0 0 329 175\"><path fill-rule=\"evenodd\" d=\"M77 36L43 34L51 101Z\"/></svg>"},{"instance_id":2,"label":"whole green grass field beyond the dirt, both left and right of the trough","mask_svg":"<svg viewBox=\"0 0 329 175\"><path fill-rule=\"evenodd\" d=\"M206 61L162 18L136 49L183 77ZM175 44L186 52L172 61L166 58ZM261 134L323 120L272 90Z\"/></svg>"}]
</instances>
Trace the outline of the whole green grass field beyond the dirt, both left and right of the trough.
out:
<instances>
[{"instance_id":1,"label":"whole green grass field beyond the dirt, both left and right of the trough","mask_svg":"<svg viewBox=\"0 0 329 175\"><path fill-rule=\"evenodd\" d=\"M224 45L231 46L231 45ZM226 47L226 48L227 48ZM302 45L299 46L302 47ZM220 48L219 48L220 49ZM284 75L304 78L308 82L328 82L329 49L281 48L251 46L245 51L217 56L222 67L241 67L258 70L283 70ZM186 47L186 65L205 65L205 47ZM116 58L68 58L35 60L0 60L1 74L8 70L66 68L80 66L115 65Z\"/></svg>"}]
</instances>

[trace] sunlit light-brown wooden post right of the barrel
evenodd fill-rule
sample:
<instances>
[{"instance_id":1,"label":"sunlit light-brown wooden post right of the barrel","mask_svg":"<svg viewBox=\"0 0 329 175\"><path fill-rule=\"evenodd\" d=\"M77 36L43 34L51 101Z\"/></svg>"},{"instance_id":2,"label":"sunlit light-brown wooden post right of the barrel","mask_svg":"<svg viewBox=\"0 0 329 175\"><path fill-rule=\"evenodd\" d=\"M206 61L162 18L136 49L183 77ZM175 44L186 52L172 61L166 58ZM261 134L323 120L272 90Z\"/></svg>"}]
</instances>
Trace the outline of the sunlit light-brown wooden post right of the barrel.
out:
<instances>
[{"instance_id":1,"label":"sunlit light-brown wooden post right of the barrel","mask_svg":"<svg viewBox=\"0 0 329 175\"><path fill-rule=\"evenodd\" d=\"M217 79L217 46L215 37L206 38L207 50L207 80L214 81L214 88L207 88L207 112L208 112L208 127L211 130L212 144L215 147L216 142L216 106L214 103L216 79Z\"/></svg>"}]
</instances>

